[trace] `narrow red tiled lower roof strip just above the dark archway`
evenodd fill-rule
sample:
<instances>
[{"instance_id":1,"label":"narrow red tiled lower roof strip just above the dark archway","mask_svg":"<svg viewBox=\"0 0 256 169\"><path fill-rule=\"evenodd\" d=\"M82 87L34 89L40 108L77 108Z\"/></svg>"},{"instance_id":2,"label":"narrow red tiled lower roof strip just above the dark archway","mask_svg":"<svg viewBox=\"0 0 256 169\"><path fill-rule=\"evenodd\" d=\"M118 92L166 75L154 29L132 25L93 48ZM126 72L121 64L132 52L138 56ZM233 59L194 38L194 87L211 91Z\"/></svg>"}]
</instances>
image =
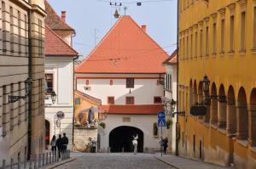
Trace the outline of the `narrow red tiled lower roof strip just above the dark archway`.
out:
<instances>
[{"instance_id":1,"label":"narrow red tiled lower roof strip just above the dark archway","mask_svg":"<svg viewBox=\"0 0 256 169\"><path fill-rule=\"evenodd\" d=\"M102 112L105 110L108 114L115 115L157 115L161 110L164 110L162 104L144 104L144 105L102 105Z\"/></svg>"}]
</instances>

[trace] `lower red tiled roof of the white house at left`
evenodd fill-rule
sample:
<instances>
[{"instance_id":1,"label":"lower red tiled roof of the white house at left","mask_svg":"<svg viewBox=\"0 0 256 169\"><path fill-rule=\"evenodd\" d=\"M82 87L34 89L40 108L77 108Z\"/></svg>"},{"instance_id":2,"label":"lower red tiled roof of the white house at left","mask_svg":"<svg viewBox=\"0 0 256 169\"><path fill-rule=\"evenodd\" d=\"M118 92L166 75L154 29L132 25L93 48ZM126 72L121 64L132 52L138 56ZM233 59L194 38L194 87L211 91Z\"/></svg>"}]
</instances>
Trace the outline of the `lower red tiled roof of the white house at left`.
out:
<instances>
[{"instance_id":1,"label":"lower red tiled roof of the white house at left","mask_svg":"<svg viewBox=\"0 0 256 169\"><path fill-rule=\"evenodd\" d=\"M72 47L45 25L45 54L46 55L78 55Z\"/></svg>"}]
</instances>

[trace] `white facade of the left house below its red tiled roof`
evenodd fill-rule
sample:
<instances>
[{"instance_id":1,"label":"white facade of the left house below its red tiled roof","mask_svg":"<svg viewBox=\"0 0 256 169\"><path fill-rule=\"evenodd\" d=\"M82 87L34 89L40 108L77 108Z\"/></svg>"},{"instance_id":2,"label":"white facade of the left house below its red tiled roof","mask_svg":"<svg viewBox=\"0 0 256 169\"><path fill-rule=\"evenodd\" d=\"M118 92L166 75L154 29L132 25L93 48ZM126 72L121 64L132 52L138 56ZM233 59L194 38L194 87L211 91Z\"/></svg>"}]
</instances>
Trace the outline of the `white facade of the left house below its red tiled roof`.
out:
<instances>
[{"instance_id":1,"label":"white facade of the left house below its red tiled roof","mask_svg":"<svg viewBox=\"0 0 256 169\"><path fill-rule=\"evenodd\" d=\"M45 73L54 74L54 91L57 95L55 104L45 108L45 119L50 123L50 139L53 135L66 132L69 138L69 148L73 140L73 58L72 57L45 57ZM50 104L46 99L45 104ZM65 113L61 120L61 130L55 126L55 114L58 111Z\"/></svg>"}]
</instances>

